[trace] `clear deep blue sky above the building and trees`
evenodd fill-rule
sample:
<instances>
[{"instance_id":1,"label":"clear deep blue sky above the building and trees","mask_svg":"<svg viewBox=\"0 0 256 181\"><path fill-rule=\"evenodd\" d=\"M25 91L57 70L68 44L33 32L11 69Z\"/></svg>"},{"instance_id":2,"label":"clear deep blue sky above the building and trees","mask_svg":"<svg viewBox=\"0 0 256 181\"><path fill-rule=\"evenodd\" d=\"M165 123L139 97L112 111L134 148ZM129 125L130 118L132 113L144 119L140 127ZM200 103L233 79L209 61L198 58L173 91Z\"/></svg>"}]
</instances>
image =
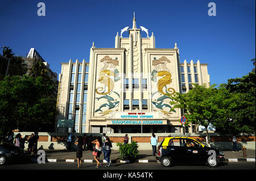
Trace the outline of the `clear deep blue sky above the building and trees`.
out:
<instances>
[{"instance_id":1,"label":"clear deep blue sky above the building and trees","mask_svg":"<svg viewBox=\"0 0 256 181\"><path fill-rule=\"evenodd\" d=\"M39 2L45 3L46 16L37 15ZM216 16L208 16L209 2L216 3ZM0 0L0 47L20 56L35 48L59 74L60 62L89 61L93 41L96 48L114 48L117 32L132 27L134 11L137 27L146 27L149 35L154 32L156 48L174 48L176 42L180 62L209 64L211 84L253 69L254 0Z\"/></svg>"}]
</instances>

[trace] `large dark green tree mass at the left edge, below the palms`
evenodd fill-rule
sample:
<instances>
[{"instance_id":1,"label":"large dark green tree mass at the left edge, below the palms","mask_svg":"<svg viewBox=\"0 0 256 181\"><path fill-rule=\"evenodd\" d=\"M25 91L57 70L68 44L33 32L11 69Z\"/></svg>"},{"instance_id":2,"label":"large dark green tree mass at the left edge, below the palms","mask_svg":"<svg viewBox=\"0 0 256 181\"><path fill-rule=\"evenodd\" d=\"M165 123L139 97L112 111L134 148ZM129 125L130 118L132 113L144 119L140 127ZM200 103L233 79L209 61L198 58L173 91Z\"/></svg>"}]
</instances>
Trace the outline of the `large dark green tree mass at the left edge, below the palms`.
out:
<instances>
[{"instance_id":1,"label":"large dark green tree mass at the left edge, below the palms","mask_svg":"<svg viewBox=\"0 0 256 181\"><path fill-rule=\"evenodd\" d=\"M53 89L42 77L6 76L0 81L0 128L3 133L20 131L53 131L56 98L43 96ZM50 130L51 129L51 130Z\"/></svg>"}]
</instances>

